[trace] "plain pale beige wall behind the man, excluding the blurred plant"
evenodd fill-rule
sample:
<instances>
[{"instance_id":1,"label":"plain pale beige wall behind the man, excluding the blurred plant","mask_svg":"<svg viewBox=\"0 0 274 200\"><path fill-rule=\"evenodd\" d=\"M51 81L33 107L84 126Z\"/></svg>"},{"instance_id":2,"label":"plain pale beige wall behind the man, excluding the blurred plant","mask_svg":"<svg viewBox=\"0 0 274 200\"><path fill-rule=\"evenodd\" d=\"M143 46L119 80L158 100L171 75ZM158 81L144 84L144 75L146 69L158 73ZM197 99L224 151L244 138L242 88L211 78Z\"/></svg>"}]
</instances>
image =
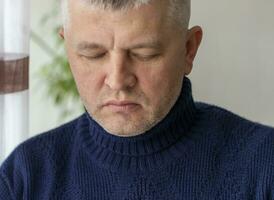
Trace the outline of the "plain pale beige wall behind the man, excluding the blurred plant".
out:
<instances>
[{"instance_id":1,"label":"plain pale beige wall behind the man, excluding the blurred plant","mask_svg":"<svg viewBox=\"0 0 274 200\"><path fill-rule=\"evenodd\" d=\"M49 30L41 28L38 22L52 2L32 0L32 29L49 43ZM204 40L190 76L196 100L274 126L273 9L272 0L192 0L191 24L204 29ZM43 96L43 85L33 81L37 68L48 59L31 43L31 135L62 123L58 121L57 109Z\"/></svg>"}]
</instances>

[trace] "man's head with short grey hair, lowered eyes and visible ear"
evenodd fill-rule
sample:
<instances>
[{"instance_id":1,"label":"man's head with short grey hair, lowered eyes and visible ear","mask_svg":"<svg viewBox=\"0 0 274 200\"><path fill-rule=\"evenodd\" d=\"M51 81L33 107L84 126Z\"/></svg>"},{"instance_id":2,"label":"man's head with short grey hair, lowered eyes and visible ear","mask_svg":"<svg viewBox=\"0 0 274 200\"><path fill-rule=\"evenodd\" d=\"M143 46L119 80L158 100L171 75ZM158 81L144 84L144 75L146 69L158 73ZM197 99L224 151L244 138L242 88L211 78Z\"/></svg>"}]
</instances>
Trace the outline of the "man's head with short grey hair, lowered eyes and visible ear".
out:
<instances>
[{"instance_id":1,"label":"man's head with short grey hair, lowered eyes and visible ear","mask_svg":"<svg viewBox=\"0 0 274 200\"><path fill-rule=\"evenodd\" d=\"M184 0L67 1L61 35L87 111L114 135L151 129L175 104L202 38L171 13Z\"/></svg>"}]
</instances>

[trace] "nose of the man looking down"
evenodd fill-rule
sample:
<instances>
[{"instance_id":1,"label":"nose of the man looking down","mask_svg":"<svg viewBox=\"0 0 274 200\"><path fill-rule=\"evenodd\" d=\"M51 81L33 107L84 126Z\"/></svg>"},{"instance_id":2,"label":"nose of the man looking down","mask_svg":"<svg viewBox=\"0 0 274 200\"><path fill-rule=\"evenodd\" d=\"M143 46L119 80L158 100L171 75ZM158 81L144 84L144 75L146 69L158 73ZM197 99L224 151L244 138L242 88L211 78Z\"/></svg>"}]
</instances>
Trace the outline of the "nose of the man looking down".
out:
<instances>
[{"instance_id":1,"label":"nose of the man looking down","mask_svg":"<svg viewBox=\"0 0 274 200\"><path fill-rule=\"evenodd\" d=\"M107 69L105 84L112 90L127 90L133 88L137 83L130 63L127 61L126 55L115 55Z\"/></svg>"}]
</instances>

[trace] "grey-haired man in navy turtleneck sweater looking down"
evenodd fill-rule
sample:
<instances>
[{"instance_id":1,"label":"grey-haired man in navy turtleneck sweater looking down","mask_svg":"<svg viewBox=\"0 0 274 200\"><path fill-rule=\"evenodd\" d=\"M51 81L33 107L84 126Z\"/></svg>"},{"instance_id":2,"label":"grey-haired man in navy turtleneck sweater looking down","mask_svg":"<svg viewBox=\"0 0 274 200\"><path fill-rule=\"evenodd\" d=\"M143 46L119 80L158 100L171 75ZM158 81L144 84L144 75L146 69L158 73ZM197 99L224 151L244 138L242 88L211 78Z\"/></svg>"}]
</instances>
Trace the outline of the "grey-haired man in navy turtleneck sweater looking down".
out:
<instances>
[{"instance_id":1,"label":"grey-haired man in navy turtleneck sweater looking down","mask_svg":"<svg viewBox=\"0 0 274 200\"><path fill-rule=\"evenodd\" d=\"M274 199L274 130L193 101L189 13L189 0L64 0L86 113L15 149L1 199Z\"/></svg>"}]
</instances>

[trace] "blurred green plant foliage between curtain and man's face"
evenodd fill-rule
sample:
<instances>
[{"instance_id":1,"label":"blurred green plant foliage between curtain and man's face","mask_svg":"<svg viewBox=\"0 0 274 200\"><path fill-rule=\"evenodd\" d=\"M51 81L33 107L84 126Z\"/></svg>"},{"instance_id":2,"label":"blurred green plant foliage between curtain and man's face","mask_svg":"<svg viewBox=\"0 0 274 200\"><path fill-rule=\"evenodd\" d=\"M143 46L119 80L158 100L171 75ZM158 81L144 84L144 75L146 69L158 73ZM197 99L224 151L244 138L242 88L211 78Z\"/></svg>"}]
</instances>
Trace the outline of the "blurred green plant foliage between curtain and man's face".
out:
<instances>
[{"instance_id":1,"label":"blurred green plant foliage between curtain and man's face","mask_svg":"<svg viewBox=\"0 0 274 200\"><path fill-rule=\"evenodd\" d=\"M33 42L50 56L50 61L40 67L37 76L45 84L45 96L50 98L60 108L60 117L65 118L72 112L79 112L79 110L84 110L84 108L66 58L64 41L58 34L61 28L58 1L56 1L49 12L42 16L40 23L41 26L48 25L51 27L50 37L54 43L53 46L50 46L40 36L43 34L36 34L32 31L31 39Z\"/></svg>"}]
</instances>

